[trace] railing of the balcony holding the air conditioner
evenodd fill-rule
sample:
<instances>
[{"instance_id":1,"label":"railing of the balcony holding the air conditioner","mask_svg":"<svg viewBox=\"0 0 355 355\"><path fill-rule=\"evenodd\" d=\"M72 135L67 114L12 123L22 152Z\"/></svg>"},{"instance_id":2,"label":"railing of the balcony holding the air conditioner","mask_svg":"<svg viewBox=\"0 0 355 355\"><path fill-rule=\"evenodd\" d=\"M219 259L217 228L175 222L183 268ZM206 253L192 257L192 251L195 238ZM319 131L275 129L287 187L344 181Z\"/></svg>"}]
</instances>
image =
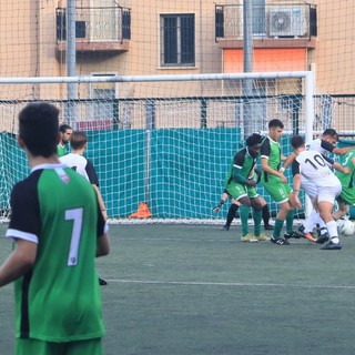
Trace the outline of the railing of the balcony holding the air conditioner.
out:
<instances>
[{"instance_id":1,"label":"railing of the balcony holding the air conditioner","mask_svg":"<svg viewBox=\"0 0 355 355\"><path fill-rule=\"evenodd\" d=\"M310 3L253 6L256 39L311 39L317 36L316 7ZM243 6L215 6L215 39L243 39Z\"/></svg>"}]
</instances>

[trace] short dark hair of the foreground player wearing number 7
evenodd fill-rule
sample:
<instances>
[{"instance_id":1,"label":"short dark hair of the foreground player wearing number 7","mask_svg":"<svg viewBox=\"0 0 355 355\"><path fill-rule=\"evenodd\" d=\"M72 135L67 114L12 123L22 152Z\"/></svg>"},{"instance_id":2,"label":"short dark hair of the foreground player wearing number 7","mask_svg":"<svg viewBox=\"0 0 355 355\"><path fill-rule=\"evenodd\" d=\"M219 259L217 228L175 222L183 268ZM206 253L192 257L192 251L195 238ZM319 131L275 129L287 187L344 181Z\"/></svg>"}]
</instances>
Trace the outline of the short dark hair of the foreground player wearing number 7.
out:
<instances>
[{"instance_id":1,"label":"short dark hair of the foreground player wearing number 7","mask_svg":"<svg viewBox=\"0 0 355 355\"><path fill-rule=\"evenodd\" d=\"M34 156L57 153L58 124L59 110L47 102L29 103L19 113L19 135Z\"/></svg>"}]
</instances>

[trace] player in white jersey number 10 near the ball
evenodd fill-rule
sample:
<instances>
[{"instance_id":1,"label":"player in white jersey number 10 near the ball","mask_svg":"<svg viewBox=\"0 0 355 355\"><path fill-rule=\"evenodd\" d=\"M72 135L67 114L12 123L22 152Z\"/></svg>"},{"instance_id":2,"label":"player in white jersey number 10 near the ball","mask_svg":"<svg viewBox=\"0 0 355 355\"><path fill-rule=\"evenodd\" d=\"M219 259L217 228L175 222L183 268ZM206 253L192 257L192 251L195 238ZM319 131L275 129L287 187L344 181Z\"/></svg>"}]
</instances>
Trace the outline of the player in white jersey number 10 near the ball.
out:
<instances>
[{"instance_id":1,"label":"player in white jersey number 10 near the ball","mask_svg":"<svg viewBox=\"0 0 355 355\"><path fill-rule=\"evenodd\" d=\"M291 139L291 145L294 150L296 159L292 163L293 186L295 202L298 209L302 204L298 199L302 179L313 183L316 190L315 206L320 211L322 220L325 222L331 240L324 250L342 248L337 234L336 223L332 216L335 199L342 192L341 181L334 175L328 168L324 156L314 150L307 150L301 135Z\"/></svg>"}]
</instances>

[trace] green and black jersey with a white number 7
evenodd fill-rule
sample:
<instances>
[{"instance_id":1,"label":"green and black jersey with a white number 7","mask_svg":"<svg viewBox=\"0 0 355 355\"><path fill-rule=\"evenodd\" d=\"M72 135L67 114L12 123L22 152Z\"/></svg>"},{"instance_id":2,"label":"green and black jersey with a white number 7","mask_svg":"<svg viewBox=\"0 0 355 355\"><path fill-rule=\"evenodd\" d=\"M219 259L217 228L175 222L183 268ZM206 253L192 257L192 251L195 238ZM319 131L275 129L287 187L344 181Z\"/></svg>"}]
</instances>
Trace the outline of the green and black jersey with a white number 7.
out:
<instances>
[{"instance_id":1,"label":"green and black jersey with a white number 7","mask_svg":"<svg viewBox=\"0 0 355 355\"><path fill-rule=\"evenodd\" d=\"M16 336L71 342L104 334L94 267L105 232L92 185L62 164L38 165L11 193L7 236L38 243L32 268L17 280Z\"/></svg>"}]
</instances>

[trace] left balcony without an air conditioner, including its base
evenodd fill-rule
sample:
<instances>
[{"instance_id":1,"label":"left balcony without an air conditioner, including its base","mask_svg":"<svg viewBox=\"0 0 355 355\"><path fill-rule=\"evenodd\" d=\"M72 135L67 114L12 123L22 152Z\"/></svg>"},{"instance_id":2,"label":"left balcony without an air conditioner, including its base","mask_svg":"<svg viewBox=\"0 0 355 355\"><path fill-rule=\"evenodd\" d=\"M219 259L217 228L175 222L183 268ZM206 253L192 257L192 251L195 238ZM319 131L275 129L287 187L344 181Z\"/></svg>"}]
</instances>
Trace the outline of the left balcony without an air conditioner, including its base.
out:
<instances>
[{"instance_id":1,"label":"left balcony without an air conditioner, including its base","mask_svg":"<svg viewBox=\"0 0 355 355\"><path fill-rule=\"evenodd\" d=\"M57 52L67 50L67 9L57 8ZM77 8L77 52L122 53L130 49L131 10L121 7Z\"/></svg>"}]
</instances>

